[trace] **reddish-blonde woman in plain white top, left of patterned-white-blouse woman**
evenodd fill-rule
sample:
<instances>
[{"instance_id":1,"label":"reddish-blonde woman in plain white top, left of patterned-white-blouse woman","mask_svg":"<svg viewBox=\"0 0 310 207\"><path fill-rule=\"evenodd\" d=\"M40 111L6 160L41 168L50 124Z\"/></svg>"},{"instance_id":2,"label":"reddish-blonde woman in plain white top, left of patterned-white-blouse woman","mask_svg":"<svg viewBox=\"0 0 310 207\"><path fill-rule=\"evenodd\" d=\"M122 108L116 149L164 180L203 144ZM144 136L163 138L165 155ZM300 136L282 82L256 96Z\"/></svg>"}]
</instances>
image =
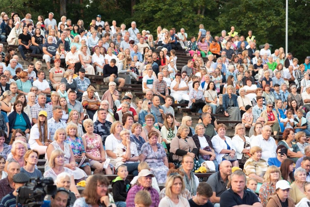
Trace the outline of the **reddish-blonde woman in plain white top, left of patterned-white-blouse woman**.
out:
<instances>
[{"instance_id":1,"label":"reddish-blonde woman in plain white top, left of patterned-white-blouse woman","mask_svg":"<svg viewBox=\"0 0 310 207\"><path fill-rule=\"evenodd\" d=\"M84 121L85 122L85 121ZM111 125L110 135L105 139L105 150L107 158L110 158L110 163L116 165L116 148L122 142L120 133L123 130L122 122L114 121Z\"/></svg>"}]
</instances>

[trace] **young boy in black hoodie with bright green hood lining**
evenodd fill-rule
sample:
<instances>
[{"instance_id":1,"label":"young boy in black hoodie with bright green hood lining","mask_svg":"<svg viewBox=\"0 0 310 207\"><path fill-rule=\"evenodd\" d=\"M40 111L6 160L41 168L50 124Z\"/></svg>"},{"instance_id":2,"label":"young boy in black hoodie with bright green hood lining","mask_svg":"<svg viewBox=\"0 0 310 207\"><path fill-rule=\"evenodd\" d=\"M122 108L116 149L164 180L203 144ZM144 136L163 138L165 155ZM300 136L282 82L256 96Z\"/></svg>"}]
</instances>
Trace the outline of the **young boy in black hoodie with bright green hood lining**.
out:
<instances>
[{"instance_id":1,"label":"young boy in black hoodie with bright green hood lining","mask_svg":"<svg viewBox=\"0 0 310 207\"><path fill-rule=\"evenodd\" d=\"M119 166L117 175L112 181L113 199L117 207L126 207L127 193L130 189L130 181L126 179L128 176L127 166Z\"/></svg>"}]
</instances>

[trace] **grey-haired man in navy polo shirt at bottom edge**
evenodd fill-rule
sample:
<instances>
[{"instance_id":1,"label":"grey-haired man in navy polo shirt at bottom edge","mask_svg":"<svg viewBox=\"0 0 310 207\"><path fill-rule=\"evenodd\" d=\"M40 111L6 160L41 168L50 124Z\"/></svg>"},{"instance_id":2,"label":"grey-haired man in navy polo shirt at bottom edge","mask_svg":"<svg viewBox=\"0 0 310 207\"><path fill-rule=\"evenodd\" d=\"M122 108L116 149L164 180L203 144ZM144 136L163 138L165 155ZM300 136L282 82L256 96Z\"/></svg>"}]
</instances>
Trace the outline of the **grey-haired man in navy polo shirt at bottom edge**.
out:
<instances>
[{"instance_id":1,"label":"grey-haired man in navy polo shirt at bottom edge","mask_svg":"<svg viewBox=\"0 0 310 207\"><path fill-rule=\"evenodd\" d=\"M255 206L263 207L255 193L245 190L246 174L236 170L230 175L231 187L220 196L221 206Z\"/></svg>"}]
</instances>

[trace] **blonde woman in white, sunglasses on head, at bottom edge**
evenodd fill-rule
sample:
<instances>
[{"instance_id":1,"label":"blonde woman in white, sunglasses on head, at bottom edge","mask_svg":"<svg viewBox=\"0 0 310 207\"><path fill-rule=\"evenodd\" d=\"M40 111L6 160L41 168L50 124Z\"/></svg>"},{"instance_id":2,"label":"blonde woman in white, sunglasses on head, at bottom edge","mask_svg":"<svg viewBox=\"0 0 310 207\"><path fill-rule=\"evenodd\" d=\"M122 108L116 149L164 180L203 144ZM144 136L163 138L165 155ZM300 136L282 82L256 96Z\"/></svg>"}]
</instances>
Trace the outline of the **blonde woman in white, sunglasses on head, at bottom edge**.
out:
<instances>
[{"instance_id":1,"label":"blonde woman in white, sunglasses on head, at bottom edge","mask_svg":"<svg viewBox=\"0 0 310 207\"><path fill-rule=\"evenodd\" d=\"M166 182L166 196L160 200L158 207L184 206L189 207L188 200L181 196L185 188L184 180L180 174L169 175Z\"/></svg>"}]
</instances>

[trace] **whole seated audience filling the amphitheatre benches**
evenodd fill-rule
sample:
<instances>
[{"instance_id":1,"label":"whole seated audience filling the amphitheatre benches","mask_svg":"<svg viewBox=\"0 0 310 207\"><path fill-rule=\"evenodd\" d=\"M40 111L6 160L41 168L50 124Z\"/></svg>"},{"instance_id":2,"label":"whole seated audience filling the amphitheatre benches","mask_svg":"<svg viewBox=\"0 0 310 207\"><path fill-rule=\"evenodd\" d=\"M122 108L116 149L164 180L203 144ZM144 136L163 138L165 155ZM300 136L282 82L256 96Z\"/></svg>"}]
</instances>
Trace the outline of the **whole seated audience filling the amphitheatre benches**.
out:
<instances>
[{"instance_id":1,"label":"whole seated audience filling the amphitheatre benches","mask_svg":"<svg viewBox=\"0 0 310 207\"><path fill-rule=\"evenodd\" d=\"M29 51L43 55L49 70L47 81L41 61L23 68L15 49L6 54L0 44L0 206L16 205L32 177L54 180L46 205L55 207L310 202L310 57L299 65L283 48L256 49L252 31L239 37L234 26L212 37L201 24L196 39L183 28L159 26L153 36L135 22L126 30L101 15L87 26L66 16L57 24L53 15L36 24L30 14L0 16L1 41L18 46L23 60ZM188 54L180 72L177 50ZM101 98L85 74L108 83ZM139 79L144 99L120 94ZM173 103L201 113L199 123L176 121ZM233 137L216 113L232 121ZM214 173L199 182L194 172L207 170ZM113 196L102 174L118 175Z\"/></svg>"}]
</instances>

